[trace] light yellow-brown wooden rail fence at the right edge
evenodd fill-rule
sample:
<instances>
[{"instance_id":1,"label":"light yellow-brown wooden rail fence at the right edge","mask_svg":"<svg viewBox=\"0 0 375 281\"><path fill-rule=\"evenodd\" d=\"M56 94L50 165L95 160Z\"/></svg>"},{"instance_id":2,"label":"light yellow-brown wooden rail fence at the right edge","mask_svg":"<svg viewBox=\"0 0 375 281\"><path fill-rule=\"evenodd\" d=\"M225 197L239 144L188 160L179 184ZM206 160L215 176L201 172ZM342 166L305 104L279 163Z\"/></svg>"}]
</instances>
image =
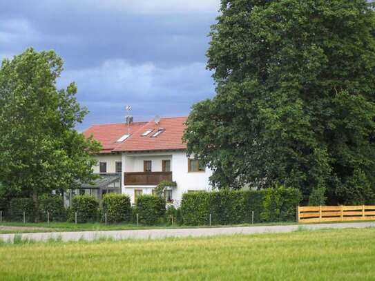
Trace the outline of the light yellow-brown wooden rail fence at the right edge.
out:
<instances>
[{"instance_id":1,"label":"light yellow-brown wooden rail fence at the right edge","mask_svg":"<svg viewBox=\"0 0 375 281\"><path fill-rule=\"evenodd\" d=\"M298 206L298 222L375 220L375 206Z\"/></svg>"}]
</instances>

